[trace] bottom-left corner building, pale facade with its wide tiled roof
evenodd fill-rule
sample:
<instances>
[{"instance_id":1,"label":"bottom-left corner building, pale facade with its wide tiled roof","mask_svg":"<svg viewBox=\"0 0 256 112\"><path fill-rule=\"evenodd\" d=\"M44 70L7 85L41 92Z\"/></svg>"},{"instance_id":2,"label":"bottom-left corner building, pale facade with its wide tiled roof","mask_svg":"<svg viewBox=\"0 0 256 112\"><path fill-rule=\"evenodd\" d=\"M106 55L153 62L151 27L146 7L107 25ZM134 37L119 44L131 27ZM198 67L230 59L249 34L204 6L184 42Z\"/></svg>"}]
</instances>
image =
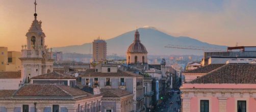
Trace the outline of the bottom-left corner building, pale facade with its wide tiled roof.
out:
<instances>
[{"instance_id":1,"label":"bottom-left corner building, pale facade with its wide tiled roof","mask_svg":"<svg viewBox=\"0 0 256 112\"><path fill-rule=\"evenodd\" d=\"M2 112L92 111L101 110L102 95L57 84L24 84L18 90L0 90Z\"/></svg>"}]
</instances>

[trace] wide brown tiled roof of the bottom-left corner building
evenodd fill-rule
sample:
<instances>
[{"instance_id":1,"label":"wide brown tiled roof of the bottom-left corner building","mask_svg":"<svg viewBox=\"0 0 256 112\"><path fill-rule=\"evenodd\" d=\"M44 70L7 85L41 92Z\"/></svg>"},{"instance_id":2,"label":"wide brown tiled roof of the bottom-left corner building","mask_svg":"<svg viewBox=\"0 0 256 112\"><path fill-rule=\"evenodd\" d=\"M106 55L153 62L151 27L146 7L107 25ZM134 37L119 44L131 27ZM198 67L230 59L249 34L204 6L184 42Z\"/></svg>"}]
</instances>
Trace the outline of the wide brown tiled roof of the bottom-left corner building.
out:
<instances>
[{"instance_id":1,"label":"wide brown tiled roof of the bottom-left corner building","mask_svg":"<svg viewBox=\"0 0 256 112\"><path fill-rule=\"evenodd\" d=\"M79 100L89 97L95 96L77 88L58 84L30 83L18 90L0 90L0 100Z\"/></svg>"}]
</instances>

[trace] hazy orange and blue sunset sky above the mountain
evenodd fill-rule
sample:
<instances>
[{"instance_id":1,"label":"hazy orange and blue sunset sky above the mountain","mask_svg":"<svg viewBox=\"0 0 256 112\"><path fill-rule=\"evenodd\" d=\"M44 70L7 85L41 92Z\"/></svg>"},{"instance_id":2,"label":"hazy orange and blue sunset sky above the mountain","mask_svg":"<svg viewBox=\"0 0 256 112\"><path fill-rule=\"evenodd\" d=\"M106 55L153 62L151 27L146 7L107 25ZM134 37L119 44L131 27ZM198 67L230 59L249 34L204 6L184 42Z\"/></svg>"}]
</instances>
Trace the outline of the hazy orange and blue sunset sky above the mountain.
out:
<instances>
[{"instance_id":1,"label":"hazy orange and blue sunset sky above the mountain","mask_svg":"<svg viewBox=\"0 0 256 112\"><path fill-rule=\"evenodd\" d=\"M109 39L145 25L211 44L255 46L255 7L254 0L38 0L37 17L49 47ZM0 46L20 50L33 14L33 0L0 0Z\"/></svg>"}]
</instances>

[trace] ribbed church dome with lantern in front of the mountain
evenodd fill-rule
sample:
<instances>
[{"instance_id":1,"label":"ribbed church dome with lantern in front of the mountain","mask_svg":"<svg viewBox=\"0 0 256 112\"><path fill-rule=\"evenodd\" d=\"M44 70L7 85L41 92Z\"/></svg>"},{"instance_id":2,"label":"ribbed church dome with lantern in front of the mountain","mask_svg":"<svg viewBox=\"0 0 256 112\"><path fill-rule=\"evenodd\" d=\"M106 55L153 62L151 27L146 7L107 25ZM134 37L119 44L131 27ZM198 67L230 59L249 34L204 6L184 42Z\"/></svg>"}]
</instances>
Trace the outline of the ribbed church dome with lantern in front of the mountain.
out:
<instances>
[{"instance_id":1,"label":"ribbed church dome with lantern in front of the mountain","mask_svg":"<svg viewBox=\"0 0 256 112\"><path fill-rule=\"evenodd\" d=\"M127 49L127 53L147 53L146 47L140 42L138 30L135 32L135 40Z\"/></svg>"}]
</instances>

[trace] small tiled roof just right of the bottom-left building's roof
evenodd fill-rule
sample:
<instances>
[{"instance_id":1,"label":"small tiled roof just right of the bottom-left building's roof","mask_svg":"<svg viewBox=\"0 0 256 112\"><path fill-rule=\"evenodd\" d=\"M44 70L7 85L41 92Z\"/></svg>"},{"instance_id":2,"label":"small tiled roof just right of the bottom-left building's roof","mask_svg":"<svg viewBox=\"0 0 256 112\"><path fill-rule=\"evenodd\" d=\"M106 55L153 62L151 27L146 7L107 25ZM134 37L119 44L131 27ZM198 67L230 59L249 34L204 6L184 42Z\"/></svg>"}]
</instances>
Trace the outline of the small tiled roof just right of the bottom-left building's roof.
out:
<instances>
[{"instance_id":1,"label":"small tiled roof just right of the bottom-left building's roof","mask_svg":"<svg viewBox=\"0 0 256 112\"><path fill-rule=\"evenodd\" d=\"M103 97L122 97L132 94L121 89L100 89L100 93L103 94Z\"/></svg>"}]
</instances>

